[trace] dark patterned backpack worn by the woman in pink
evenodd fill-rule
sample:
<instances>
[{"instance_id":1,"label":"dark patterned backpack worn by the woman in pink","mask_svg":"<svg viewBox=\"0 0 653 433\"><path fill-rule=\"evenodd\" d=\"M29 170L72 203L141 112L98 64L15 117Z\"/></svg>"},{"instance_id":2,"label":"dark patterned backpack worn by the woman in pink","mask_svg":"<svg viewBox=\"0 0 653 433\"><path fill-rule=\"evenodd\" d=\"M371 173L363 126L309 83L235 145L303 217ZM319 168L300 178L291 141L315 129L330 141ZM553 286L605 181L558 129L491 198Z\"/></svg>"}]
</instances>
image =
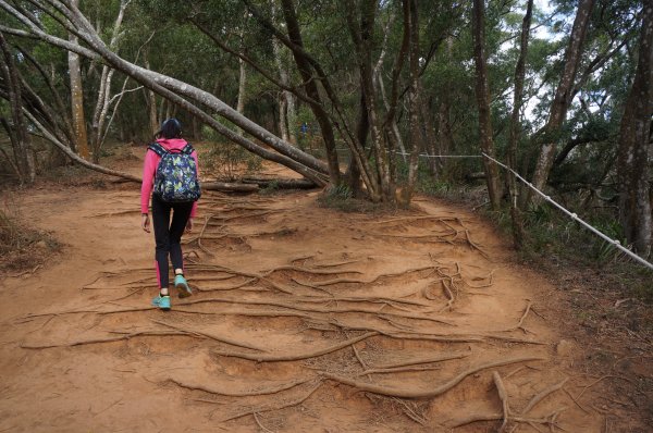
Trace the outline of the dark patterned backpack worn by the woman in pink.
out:
<instances>
[{"instance_id":1,"label":"dark patterned backpack worn by the woman in pink","mask_svg":"<svg viewBox=\"0 0 653 433\"><path fill-rule=\"evenodd\" d=\"M148 149L161 157L155 175L153 194L167 202L199 200L201 190L195 159L190 156L193 146L188 143L182 150L168 150L160 144L152 143Z\"/></svg>"}]
</instances>

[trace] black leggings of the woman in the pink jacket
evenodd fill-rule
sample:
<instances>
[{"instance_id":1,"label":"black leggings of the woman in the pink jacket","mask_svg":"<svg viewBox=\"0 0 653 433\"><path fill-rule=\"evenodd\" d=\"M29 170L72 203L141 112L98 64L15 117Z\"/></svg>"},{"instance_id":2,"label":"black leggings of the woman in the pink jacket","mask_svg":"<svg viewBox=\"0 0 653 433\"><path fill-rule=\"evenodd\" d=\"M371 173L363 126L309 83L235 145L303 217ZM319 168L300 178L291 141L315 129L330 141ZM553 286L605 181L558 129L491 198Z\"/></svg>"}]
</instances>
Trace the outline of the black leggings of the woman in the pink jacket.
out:
<instances>
[{"instance_id":1,"label":"black leggings of the woman in the pink jacket","mask_svg":"<svg viewBox=\"0 0 653 433\"><path fill-rule=\"evenodd\" d=\"M159 287L168 287L169 268L168 257L172 261L173 269L184 269L182 256L182 235L190 216L193 203L169 203L161 201L152 195L152 225L155 227L156 265ZM172 212L172 223L170 222Z\"/></svg>"}]
</instances>

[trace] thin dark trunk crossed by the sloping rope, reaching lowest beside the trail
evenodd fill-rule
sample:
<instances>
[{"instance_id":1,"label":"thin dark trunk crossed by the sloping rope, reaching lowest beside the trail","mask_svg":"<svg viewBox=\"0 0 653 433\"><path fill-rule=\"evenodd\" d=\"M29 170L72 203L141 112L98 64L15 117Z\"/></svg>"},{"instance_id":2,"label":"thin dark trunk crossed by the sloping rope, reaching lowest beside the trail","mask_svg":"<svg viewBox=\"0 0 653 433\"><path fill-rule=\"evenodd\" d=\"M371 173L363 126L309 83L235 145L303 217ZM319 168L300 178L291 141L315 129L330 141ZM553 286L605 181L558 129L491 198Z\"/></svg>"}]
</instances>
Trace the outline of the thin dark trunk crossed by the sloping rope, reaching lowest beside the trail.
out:
<instances>
[{"instance_id":1,"label":"thin dark trunk crossed by the sloping rope, reaching lowest beside the trail","mask_svg":"<svg viewBox=\"0 0 653 433\"><path fill-rule=\"evenodd\" d=\"M528 0L526 14L521 22L521 38L519 42L519 58L515 66L515 94L513 96L513 113L510 115L510 136L508 140L508 168L515 170L517 166L517 144L520 136L519 112L523 99L523 79L526 76L526 54L528 53L528 39L530 36L530 23L533 10L533 0ZM510 220L513 223L513 240L516 248L523 245L523 223L519 210L519 190L517 178L513 173L507 173L508 190L510 193Z\"/></svg>"}]
</instances>

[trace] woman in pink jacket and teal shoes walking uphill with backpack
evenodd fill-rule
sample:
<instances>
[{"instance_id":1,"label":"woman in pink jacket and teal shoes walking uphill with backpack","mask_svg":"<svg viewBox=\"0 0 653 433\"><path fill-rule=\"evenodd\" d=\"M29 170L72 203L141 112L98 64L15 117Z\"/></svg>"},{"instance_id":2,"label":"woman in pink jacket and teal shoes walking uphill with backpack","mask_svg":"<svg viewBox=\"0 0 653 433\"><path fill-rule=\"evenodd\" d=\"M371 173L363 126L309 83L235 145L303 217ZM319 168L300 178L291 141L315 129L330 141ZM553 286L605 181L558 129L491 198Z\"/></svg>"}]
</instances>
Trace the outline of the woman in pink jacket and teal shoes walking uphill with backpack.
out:
<instances>
[{"instance_id":1,"label":"woman in pink jacket and teal shoes walking uphill with backpack","mask_svg":"<svg viewBox=\"0 0 653 433\"><path fill-rule=\"evenodd\" d=\"M152 225L155 228L156 271L159 295L152 305L170 309L169 263L174 269L174 286L178 297L192 295L184 276L181 239L184 231L193 231L193 219L200 196L197 152L182 138L182 125L169 119L155 135L156 141L148 146L143 165L140 186L140 226L150 232L148 203L152 197ZM172 222L171 222L172 212Z\"/></svg>"}]
</instances>

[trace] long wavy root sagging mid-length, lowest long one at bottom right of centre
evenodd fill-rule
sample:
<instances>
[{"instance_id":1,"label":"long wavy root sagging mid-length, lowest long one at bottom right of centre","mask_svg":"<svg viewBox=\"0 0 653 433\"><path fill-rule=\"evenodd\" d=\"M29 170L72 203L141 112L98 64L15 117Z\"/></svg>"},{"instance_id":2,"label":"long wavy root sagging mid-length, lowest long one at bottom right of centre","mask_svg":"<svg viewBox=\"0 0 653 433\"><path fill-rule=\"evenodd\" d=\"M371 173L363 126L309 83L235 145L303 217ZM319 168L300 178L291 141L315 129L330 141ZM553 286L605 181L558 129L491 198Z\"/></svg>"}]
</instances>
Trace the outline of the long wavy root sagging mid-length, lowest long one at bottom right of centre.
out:
<instances>
[{"instance_id":1,"label":"long wavy root sagging mid-length, lowest long one at bottom right of centre","mask_svg":"<svg viewBox=\"0 0 653 433\"><path fill-rule=\"evenodd\" d=\"M360 382L355 379L341 376L341 375L333 374L333 373L323 373L323 375L324 375L324 378L330 379L332 381L340 382L345 385L349 385L359 391L364 391L364 392L368 392L368 393L374 393L374 394L386 395L390 397L401 397L401 398L433 398L433 397L436 397L439 395L446 393L447 391L449 391L451 388L456 386L458 383L460 383L468 375L477 373L481 370L491 369L494 367L507 366L507 364L512 364L512 363L518 363L518 362L541 361L541 360L543 360L543 358L521 357L521 358L512 358L512 359L505 359L505 360L501 360L501 361L488 362L488 363L484 363L481 366L472 367L433 389L420 389L420 391L416 391L412 388L396 388L396 387L391 387L391 386L375 385L375 384L371 384L371 383L367 383L367 382Z\"/></svg>"}]
</instances>

